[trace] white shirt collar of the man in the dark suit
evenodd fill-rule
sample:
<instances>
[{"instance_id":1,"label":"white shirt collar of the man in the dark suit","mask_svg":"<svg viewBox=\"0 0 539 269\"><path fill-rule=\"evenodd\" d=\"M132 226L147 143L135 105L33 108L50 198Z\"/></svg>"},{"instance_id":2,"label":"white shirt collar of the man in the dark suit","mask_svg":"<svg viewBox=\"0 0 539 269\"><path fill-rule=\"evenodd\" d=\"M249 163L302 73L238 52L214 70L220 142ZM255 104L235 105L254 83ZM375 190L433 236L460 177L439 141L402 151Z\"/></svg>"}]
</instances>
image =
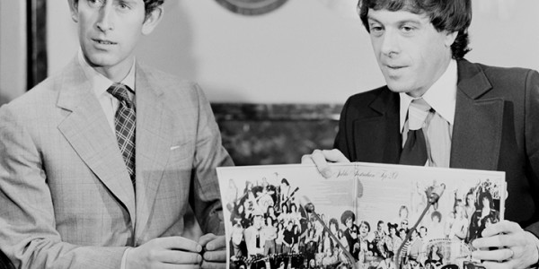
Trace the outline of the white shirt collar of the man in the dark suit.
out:
<instances>
[{"instance_id":1,"label":"white shirt collar of the man in the dark suit","mask_svg":"<svg viewBox=\"0 0 539 269\"><path fill-rule=\"evenodd\" d=\"M456 61L452 59L447 66L446 72L440 76L437 82L430 86L429 90L421 96L423 100L429 103L430 107L443 117L449 125L453 126L455 120L455 104L456 104L456 82L457 70ZM401 132L406 121L408 107L413 97L400 92L401 98Z\"/></svg>"}]
</instances>

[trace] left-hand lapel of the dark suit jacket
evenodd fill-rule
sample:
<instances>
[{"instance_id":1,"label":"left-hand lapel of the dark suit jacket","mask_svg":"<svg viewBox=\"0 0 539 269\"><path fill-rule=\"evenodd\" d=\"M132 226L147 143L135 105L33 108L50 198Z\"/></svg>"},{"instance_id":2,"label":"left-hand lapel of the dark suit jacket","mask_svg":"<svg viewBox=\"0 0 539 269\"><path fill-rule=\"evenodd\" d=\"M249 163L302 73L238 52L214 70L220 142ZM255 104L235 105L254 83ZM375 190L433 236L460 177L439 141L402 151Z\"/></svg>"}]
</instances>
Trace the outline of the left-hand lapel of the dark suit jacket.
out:
<instances>
[{"instance_id":1,"label":"left-hand lapel of the dark suit jacket","mask_svg":"<svg viewBox=\"0 0 539 269\"><path fill-rule=\"evenodd\" d=\"M354 122L357 161L398 163L402 150L399 106L399 95L385 89L370 104L373 113Z\"/></svg>"}]
</instances>

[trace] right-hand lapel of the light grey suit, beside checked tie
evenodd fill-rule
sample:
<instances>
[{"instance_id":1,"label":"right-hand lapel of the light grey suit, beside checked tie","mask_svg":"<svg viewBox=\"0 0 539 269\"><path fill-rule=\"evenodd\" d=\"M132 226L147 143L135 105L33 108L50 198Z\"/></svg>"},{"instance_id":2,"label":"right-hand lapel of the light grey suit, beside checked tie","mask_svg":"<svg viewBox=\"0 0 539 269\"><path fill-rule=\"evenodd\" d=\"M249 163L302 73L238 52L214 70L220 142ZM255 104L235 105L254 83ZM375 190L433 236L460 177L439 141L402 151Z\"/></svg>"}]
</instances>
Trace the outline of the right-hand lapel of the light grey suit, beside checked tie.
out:
<instances>
[{"instance_id":1,"label":"right-hand lapel of the light grey suit, beside checked tie","mask_svg":"<svg viewBox=\"0 0 539 269\"><path fill-rule=\"evenodd\" d=\"M172 113L163 100L162 82L146 74L137 65L137 227L136 236L146 229L153 213L155 195L163 178L163 171L170 156ZM180 209L178 209L180 210Z\"/></svg>"}]
</instances>

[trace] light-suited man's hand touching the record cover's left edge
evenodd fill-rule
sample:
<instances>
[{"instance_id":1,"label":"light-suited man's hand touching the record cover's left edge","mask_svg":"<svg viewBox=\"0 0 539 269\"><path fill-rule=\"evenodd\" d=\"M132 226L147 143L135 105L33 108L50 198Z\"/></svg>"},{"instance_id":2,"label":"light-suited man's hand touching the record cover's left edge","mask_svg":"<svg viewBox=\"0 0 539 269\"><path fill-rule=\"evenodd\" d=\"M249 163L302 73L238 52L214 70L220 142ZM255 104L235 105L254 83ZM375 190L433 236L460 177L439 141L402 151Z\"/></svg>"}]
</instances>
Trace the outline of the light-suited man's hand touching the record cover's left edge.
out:
<instances>
[{"instance_id":1,"label":"light-suited man's hand touching the record cover's left edge","mask_svg":"<svg viewBox=\"0 0 539 269\"><path fill-rule=\"evenodd\" d=\"M199 244L204 247L202 268L226 267L225 236L216 236L213 233L208 233L200 237Z\"/></svg>"}]
</instances>

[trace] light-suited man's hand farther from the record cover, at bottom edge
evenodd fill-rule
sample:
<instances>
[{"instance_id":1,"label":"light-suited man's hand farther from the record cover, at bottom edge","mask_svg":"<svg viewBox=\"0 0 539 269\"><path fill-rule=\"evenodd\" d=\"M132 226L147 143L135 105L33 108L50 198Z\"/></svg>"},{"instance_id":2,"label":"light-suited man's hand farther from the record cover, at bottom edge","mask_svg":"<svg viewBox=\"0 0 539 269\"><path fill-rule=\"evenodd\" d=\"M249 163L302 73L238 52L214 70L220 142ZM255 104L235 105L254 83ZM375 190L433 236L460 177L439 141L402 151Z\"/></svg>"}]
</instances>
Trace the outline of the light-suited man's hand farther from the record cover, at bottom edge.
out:
<instances>
[{"instance_id":1,"label":"light-suited man's hand farther from the record cover, at bottom edge","mask_svg":"<svg viewBox=\"0 0 539 269\"><path fill-rule=\"evenodd\" d=\"M129 250L126 268L199 268L202 262L202 246L181 237L158 238Z\"/></svg>"}]
</instances>

